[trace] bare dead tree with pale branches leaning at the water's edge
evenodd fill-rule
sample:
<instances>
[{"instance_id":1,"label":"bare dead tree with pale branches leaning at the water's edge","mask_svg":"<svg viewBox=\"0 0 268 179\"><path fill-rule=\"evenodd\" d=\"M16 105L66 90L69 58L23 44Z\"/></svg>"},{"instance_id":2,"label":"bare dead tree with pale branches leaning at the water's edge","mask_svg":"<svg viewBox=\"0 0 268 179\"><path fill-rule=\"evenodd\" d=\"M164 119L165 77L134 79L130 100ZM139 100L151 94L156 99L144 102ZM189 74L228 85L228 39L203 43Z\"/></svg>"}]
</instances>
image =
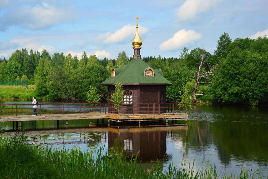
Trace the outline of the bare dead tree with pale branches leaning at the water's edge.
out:
<instances>
[{"instance_id":1,"label":"bare dead tree with pale branches leaning at the water's edge","mask_svg":"<svg viewBox=\"0 0 268 179\"><path fill-rule=\"evenodd\" d=\"M195 79L195 88L193 90L193 101L196 102L196 95L200 95L200 96L207 96L202 94L203 92L200 91L198 89L198 84L209 84L212 83L212 77L215 74L215 72L218 69L218 63L215 62L213 65L210 65L210 62L208 62L207 60L204 60L205 56L207 55L207 53L209 53L209 51L205 51L205 46L203 46L203 51L202 51L202 56L200 57L200 65L198 70L196 69L195 72L193 72L191 75L191 77L193 77ZM204 64L207 64L207 69L204 68ZM201 94L200 94L201 93Z\"/></svg>"}]
</instances>

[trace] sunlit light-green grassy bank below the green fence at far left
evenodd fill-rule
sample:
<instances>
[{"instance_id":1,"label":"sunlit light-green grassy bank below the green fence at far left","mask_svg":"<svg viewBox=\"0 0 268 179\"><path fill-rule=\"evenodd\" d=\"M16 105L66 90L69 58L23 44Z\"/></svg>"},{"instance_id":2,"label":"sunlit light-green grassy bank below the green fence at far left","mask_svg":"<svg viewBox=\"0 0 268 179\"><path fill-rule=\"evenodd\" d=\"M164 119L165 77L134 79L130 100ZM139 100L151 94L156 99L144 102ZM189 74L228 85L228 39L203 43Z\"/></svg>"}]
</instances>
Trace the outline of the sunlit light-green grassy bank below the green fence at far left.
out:
<instances>
[{"instance_id":1,"label":"sunlit light-green grassy bank below the green fence at far left","mask_svg":"<svg viewBox=\"0 0 268 179\"><path fill-rule=\"evenodd\" d=\"M0 86L0 98L7 100L31 101L34 96L35 85L29 85L28 89L23 86Z\"/></svg>"}]
</instances>

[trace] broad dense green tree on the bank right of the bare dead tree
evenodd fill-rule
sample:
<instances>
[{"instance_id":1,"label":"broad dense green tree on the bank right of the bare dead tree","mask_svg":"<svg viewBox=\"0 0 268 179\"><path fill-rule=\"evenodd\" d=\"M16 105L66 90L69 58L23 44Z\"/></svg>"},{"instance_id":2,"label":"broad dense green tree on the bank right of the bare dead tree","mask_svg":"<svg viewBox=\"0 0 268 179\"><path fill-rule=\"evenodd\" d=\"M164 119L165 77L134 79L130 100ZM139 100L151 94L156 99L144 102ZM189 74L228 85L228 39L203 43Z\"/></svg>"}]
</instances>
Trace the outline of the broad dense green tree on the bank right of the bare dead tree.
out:
<instances>
[{"instance_id":1,"label":"broad dense green tree on the bank right of the bare dead tree","mask_svg":"<svg viewBox=\"0 0 268 179\"><path fill-rule=\"evenodd\" d=\"M233 49L224 59L210 86L210 98L217 102L267 102L267 55L253 49Z\"/></svg>"}]
</instances>

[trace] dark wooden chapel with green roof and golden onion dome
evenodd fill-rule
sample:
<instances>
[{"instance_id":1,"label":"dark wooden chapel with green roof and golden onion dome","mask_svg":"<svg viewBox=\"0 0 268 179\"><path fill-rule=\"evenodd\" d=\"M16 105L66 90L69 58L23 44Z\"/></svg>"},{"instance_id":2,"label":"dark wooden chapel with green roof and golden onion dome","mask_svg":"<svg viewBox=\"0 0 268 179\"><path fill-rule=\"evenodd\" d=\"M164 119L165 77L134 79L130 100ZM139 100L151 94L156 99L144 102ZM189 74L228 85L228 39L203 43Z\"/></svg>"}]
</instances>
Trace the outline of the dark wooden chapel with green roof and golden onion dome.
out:
<instances>
[{"instance_id":1,"label":"dark wooden chapel with green roof and golden onion dome","mask_svg":"<svg viewBox=\"0 0 268 179\"><path fill-rule=\"evenodd\" d=\"M138 17L137 17L138 18ZM108 103L111 102L111 95L115 90L115 85L122 83L124 92L125 108L122 112L133 111L134 114L148 113L148 104L155 104L155 111L162 111L166 107L166 86L171 85L165 77L161 69L153 69L142 60L140 49L142 40L138 33L138 23L136 26L136 35L132 40L134 55L133 59L122 68L113 68L111 76L103 81L102 85L108 87ZM149 113L153 113L153 106L150 105ZM165 109L165 108L163 108ZM111 106L108 112L114 110ZM121 113L121 111L120 111Z\"/></svg>"}]
</instances>

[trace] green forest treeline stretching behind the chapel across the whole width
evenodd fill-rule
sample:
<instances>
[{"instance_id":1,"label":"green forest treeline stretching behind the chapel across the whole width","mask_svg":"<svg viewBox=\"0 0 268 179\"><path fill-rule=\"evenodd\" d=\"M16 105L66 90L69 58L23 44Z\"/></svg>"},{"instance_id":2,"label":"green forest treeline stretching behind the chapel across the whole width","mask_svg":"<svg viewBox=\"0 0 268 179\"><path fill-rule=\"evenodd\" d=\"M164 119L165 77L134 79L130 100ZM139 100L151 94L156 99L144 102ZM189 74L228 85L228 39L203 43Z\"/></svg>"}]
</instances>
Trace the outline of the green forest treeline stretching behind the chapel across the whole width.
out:
<instances>
[{"instance_id":1,"label":"green forest treeline stretching behind the chapel across the whole width","mask_svg":"<svg viewBox=\"0 0 268 179\"><path fill-rule=\"evenodd\" d=\"M191 51L183 48L178 57L143 57L154 69L162 69L172 86L167 87L167 99L192 100L193 92L198 101L219 103L243 103L257 105L267 103L268 91L268 39L236 38L232 41L223 33L217 41L216 50L198 47ZM200 66L203 54L204 64ZM0 59L0 82L27 80L35 84L38 99L85 100L91 86L96 87L102 99L107 99L107 87L101 83L110 76L112 67L121 68L132 60L126 52L119 52L116 59L99 59L96 55L81 59L64 53L49 54L27 49L15 51L9 59ZM210 77L196 80L198 69ZM199 71L200 71L199 70ZM196 90L194 90L196 88Z\"/></svg>"}]
</instances>

